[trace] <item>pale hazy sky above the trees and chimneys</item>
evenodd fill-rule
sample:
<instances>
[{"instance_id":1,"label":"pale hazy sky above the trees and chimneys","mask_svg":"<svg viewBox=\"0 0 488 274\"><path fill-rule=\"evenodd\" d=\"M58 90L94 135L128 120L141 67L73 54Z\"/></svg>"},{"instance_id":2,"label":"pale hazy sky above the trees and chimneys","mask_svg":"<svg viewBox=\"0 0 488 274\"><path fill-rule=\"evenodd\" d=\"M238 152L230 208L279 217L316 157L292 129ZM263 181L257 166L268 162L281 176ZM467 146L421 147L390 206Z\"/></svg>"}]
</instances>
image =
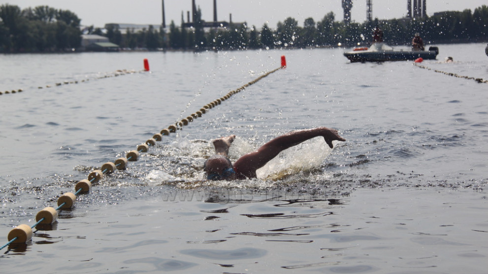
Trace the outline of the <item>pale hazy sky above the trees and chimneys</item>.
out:
<instances>
[{"instance_id":1,"label":"pale hazy sky above the trees and chimneys","mask_svg":"<svg viewBox=\"0 0 488 274\"><path fill-rule=\"evenodd\" d=\"M22 9L48 5L56 9L68 9L81 19L85 26L103 27L105 23L131 23L160 25L162 23L161 0L0 0L0 4L14 4ZM217 0L217 19L228 21L232 13L233 22L247 22L260 28L264 23L275 28L276 23L293 17L303 26L303 21L312 17L321 20L332 11L336 20L343 19L341 0ZM373 18L391 19L406 15L407 0L373 0ZM202 10L202 19L213 20L213 0L196 0ZM446 10L464 10L488 5L487 0L427 0L427 15ZM192 9L191 0L165 0L166 25L171 20L181 23L181 12ZM366 0L353 0L352 20L362 23L366 20Z\"/></svg>"}]
</instances>

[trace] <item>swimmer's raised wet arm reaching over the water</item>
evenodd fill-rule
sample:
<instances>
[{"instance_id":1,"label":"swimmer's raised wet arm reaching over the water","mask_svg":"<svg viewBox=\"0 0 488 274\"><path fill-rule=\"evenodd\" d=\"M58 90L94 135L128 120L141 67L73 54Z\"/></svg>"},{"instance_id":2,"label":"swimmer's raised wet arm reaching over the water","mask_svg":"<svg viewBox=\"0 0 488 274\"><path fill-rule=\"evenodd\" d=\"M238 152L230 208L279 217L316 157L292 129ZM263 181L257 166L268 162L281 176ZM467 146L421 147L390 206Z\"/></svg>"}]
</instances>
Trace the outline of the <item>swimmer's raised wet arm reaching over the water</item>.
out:
<instances>
[{"instance_id":1,"label":"swimmer's raised wet arm reaching over the water","mask_svg":"<svg viewBox=\"0 0 488 274\"><path fill-rule=\"evenodd\" d=\"M333 148L332 141L334 140L346 141L339 136L337 130L328 127L295 130L267 142L255 152L243 155L234 163L234 169L241 177L256 178L256 170L263 167L280 152L318 136L324 137L330 148Z\"/></svg>"}]
</instances>

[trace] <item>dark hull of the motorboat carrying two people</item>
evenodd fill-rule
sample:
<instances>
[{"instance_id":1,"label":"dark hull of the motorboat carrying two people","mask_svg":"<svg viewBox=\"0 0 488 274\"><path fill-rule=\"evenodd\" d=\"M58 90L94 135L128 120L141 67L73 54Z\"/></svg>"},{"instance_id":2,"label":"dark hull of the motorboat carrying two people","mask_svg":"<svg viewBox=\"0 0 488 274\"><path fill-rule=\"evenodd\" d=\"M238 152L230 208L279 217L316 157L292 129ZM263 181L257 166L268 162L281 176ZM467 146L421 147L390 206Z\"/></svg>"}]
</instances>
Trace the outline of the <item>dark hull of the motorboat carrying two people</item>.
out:
<instances>
[{"instance_id":1,"label":"dark hull of the motorboat carrying two people","mask_svg":"<svg viewBox=\"0 0 488 274\"><path fill-rule=\"evenodd\" d=\"M345 52L344 56L351 62L435 60L437 51L351 51Z\"/></svg>"}]
</instances>

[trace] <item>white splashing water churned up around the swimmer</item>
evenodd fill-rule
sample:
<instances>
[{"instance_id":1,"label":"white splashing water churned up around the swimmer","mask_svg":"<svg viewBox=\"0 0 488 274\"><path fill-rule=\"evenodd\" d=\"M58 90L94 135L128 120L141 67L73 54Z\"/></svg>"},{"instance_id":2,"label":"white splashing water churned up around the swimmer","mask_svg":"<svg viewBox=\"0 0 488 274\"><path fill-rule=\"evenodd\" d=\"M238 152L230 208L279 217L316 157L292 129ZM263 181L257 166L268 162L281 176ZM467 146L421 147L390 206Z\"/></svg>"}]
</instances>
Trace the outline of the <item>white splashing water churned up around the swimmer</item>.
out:
<instances>
[{"instance_id":1,"label":"white splashing water churned up around the swimmer","mask_svg":"<svg viewBox=\"0 0 488 274\"><path fill-rule=\"evenodd\" d=\"M186 138L180 138L178 141L172 142L167 148L164 148L164 153L170 154L171 150L177 150L182 157L192 157L195 166L198 162L203 162L206 158L212 155L212 150L209 149L211 145L209 142L189 141ZM251 142L242 138L236 137L229 150L229 157L232 161L237 160L241 155L253 152L257 149ZM254 180L239 180L239 181L205 181L204 173L201 169L193 174L182 173L170 174L171 171L154 169L150 171L144 178L144 182L149 186L156 185L173 185L180 188L196 188L196 187L251 187L251 188L267 188L283 182L283 180L303 175L303 173L311 172L320 169L324 165L324 159L330 154L331 149L327 146L323 138L317 137L305 141L298 146L292 147L278 154L275 158L269 161L265 166L257 171L258 179ZM191 159L190 159L191 160Z\"/></svg>"}]
</instances>

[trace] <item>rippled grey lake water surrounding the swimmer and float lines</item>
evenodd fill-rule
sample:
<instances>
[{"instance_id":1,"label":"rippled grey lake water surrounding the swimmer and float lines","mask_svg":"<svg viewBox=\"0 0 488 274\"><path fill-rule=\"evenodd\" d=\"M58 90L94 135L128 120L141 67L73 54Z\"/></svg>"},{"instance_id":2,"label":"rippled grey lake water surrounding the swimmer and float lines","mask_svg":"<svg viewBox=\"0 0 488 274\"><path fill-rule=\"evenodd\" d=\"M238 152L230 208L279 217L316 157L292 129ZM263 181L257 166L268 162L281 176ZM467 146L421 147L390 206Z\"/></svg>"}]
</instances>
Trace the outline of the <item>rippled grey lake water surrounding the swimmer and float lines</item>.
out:
<instances>
[{"instance_id":1,"label":"rippled grey lake water surrounding the swimmer and float lines","mask_svg":"<svg viewBox=\"0 0 488 274\"><path fill-rule=\"evenodd\" d=\"M488 79L485 44L436 46L423 66ZM3 248L0 272L486 273L488 85L412 61L350 63L343 51L1 55L0 91L23 91L0 95L0 244L105 162L280 56L288 67ZM257 180L202 181L214 138L237 135L235 160L315 126L347 141L307 141Z\"/></svg>"}]
</instances>

